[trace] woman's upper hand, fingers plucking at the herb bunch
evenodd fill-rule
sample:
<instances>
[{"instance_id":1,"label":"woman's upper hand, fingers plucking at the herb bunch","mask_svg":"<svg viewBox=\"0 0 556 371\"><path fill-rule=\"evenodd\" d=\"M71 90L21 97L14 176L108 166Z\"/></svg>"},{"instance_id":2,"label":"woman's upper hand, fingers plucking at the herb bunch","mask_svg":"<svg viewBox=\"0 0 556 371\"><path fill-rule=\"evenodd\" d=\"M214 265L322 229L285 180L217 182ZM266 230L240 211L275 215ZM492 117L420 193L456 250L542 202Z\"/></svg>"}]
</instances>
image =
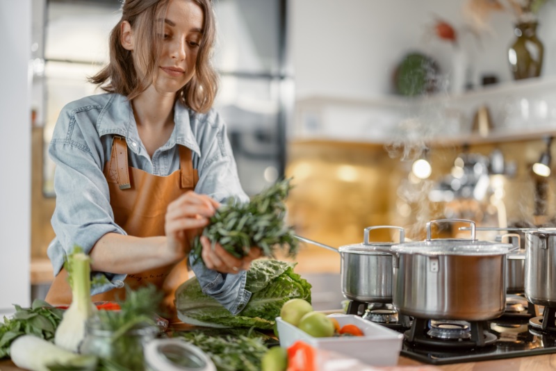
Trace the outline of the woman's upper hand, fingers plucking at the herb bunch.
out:
<instances>
[{"instance_id":1,"label":"woman's upper hand, fingers plucking at the herb bunch","mask_svg":"<svg viewBox=\"0 0 556 371\"><path fill-rule=\"evenodd\" d=\"M170 254L176 261L189 253L190 241L202 232L210 218L220 206L218 201L207 195L188 191L168 205L164 230Z\"/></svg>"}]
</instances>

